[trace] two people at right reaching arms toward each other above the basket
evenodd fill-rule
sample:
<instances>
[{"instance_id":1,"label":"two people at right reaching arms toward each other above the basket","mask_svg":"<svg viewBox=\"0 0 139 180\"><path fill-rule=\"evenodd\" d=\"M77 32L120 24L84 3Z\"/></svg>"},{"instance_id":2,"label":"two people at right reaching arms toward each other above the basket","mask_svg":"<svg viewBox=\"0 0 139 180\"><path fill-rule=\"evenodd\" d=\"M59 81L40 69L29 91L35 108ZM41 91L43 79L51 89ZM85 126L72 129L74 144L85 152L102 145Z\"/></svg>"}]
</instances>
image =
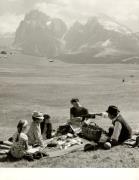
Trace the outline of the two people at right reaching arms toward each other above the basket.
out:
<instances>
[{"instance_id":1,"label":"two people at right reaching arms toward each other above the basket","mask_svg":"<svg viewBox=\"0 0 139 180\"><path fill-rule=\"evenodd\" d=\"M109 118L112 120L112 126L107 132L108 138L103 142L103 146L109 149L112 146L118 145L131 138L132 129L123 118L120 110L116 106L109 106L106 112L90 114L88 110L81 106L79 99L71 100L72 108L70 109L70 122L79 122L79 120L84 123L86 119L95 118L96 116L101 116L103 118Z\"/></svg>"}]
</instances>

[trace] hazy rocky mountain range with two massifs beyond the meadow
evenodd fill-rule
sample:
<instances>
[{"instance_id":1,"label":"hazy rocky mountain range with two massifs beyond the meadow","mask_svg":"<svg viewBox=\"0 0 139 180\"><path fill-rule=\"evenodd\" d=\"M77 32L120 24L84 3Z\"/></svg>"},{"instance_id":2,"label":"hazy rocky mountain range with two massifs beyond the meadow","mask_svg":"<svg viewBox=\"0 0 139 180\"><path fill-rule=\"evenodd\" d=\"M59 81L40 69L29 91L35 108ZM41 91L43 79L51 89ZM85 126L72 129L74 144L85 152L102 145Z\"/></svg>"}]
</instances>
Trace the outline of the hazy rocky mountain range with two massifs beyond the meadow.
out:
<instances>
[{"instance_id":1,"label":"hazy rocky mountain range with two massifs beyond the meadow","mask_svg":"<svg viewBox=\"0 0 139 180\"><path fill-rule=\"evenodd\" d=\"M17 28L14 46L25 54L72 63L120 62L138 57L139 33L104 14L68 28L63 20L33 10Z\"/></svg>"}]
</instances>

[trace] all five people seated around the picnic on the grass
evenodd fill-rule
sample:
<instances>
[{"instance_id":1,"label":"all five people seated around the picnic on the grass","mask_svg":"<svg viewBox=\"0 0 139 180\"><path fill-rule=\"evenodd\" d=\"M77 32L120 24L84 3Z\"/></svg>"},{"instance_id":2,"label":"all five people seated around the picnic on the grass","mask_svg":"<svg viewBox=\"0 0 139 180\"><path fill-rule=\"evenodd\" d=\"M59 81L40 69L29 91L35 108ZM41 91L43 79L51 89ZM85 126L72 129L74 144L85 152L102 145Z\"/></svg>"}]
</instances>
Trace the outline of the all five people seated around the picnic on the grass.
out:
<instances>
[{"instance_id":1,"label":"all five people seated around the picnic on the grass","mask_svg":"<svg viewBox=\"0 0 139 180\"><path fill-rule=\"evenodd\" d=\"M80 104L78 98L71 99L71 105L70 119L66 125L72 129L72 133L79 134L82 125L88 123L90 118L101 116L108 117L112 120L113 125L107 132L108 138L103 142L104 148L108 149L131 138L131 127L124 120L116 106L109 106L106 112L92 114ZM1 142L10 147L9 154L14 158L25 157L30 147L43 147L44 140L52 138L52 123L48 114L33 112L32 123L28 131L27 127L28 121L20 120L17 125L17 132L8 141Z\"/></svg>"}]
</instances>

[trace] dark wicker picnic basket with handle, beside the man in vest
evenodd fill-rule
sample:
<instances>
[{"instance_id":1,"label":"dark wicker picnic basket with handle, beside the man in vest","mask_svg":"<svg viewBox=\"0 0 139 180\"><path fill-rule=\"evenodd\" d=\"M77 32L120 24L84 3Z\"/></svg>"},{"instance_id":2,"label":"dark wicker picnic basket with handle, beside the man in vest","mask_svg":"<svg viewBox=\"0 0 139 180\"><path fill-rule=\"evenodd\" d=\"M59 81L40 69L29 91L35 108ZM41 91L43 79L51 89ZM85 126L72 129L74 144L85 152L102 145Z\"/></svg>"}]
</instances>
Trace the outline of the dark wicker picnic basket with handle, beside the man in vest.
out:
<instances>
[{"instance_id":1,"label":"dark wicker picnic basket with handle, beside the man in vest","mask_svg":"<svg viewBox=\"0 0 139 180\"><path fill-rule=\"evenodd\" d=\"M91 124L84 123L82 125L82 134L86 139L98 142L101 137L102 130L95 123L91 123Z\"/></svg>"}]
</instances>

